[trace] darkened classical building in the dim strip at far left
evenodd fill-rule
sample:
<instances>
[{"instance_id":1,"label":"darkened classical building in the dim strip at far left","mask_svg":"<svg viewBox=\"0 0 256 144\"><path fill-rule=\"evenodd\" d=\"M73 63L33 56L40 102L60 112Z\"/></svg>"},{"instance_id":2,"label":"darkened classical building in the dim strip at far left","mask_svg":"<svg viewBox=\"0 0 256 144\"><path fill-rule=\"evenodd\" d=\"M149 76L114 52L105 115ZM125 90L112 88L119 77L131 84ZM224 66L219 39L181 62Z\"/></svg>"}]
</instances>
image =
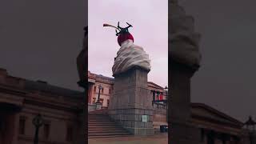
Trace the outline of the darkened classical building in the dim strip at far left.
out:
<instances>
[{"instance_id":1,"label":"darkened classical building in the dim strip at far left","mask_svg":"<svg viewBox=\"0 0 256 144\"><path fill-rule=\"evenodd\" d=\"M82 96L80 91L17 78L0 69L0 143L33 143L33 119L38 114L39 143L80 143Z\"/></svg>"}]
</instances>

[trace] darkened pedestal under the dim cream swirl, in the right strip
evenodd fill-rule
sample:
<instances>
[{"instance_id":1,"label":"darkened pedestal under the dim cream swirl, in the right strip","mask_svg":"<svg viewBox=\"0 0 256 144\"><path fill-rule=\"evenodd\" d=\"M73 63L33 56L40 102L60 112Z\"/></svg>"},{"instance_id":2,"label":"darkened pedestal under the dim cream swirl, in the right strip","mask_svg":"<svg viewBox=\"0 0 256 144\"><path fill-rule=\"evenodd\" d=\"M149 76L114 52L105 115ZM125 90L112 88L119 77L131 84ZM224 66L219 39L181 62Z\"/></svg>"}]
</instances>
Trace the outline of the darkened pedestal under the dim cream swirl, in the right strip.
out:
<instances>
[{"instance_id":1,"label":"darkened pedestal under the dim cream swirl, in the right strip","mask_svg":"<svg viewBox=\"0 0 256 144\"><path fill-rule=\"evenodd\" d=\"M199 144L201 131L189 125L190 78L197 68L170 62L170 135L172 144Z\"/></svg>"}]
</instances>

